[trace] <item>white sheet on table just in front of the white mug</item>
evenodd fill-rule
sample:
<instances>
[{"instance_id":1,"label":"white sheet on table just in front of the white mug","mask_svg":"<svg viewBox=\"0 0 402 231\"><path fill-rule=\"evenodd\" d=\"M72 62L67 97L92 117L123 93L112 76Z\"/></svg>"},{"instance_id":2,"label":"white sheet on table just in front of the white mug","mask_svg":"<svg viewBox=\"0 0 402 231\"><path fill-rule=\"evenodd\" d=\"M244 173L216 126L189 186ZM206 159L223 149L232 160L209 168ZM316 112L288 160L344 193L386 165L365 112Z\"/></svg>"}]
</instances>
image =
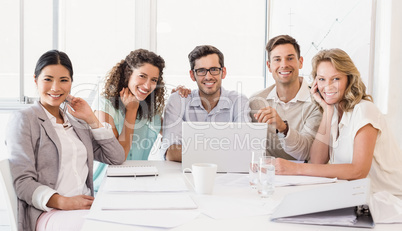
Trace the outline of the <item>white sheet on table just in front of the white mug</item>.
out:
<instances>
[{"instance_id":1,"label":"white sheet on table just in front of the white mug","mask_svg":"<svg viewBox=\"0 0 402 231\"><path fill-rule=\"evenodd\" d=\"M194 196L199 210L214 219L230 219L272 214L279 201L248 200L222 196Z\"/></svg>"}]
</instances>

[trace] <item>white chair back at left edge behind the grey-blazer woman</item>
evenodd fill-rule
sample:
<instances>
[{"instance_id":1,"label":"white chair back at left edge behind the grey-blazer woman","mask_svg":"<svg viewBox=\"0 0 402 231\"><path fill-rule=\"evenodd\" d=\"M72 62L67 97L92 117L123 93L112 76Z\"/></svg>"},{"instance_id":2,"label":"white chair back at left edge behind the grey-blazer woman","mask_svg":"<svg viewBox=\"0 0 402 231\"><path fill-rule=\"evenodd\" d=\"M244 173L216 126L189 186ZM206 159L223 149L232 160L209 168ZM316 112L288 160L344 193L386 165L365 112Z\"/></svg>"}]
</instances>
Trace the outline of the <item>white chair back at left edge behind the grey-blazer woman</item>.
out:
<instances>
[{"instance_id":1,"label":"white chair back at left edge behind the grey-blazer woman","mask_svg":"<svg viewBox=\"0 0 402 231\"><path fill-rule=\"evenodd\" d=\"M8 216L10 218L10 230L17 231L17 194L15 193L13 180L11 178L10 163L8 159L0 160L0 182L4 188Z\"/></svg>"}]
</instances>

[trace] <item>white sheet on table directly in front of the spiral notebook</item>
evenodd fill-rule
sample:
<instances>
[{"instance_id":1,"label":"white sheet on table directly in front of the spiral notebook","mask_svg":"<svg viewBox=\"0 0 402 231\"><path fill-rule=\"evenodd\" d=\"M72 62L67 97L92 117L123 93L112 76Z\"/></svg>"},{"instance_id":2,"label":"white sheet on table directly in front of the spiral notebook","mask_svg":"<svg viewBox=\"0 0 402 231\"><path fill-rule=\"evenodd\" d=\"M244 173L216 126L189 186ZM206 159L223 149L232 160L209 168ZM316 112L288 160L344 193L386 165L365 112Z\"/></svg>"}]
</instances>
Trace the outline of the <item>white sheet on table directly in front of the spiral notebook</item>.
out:
<instances>
[{"instance_id":1,"label":"white sheet on table directly in front of the spiral notebook","mask_svg":"<svg viewBox=\"0 0 402 231\"><path fill-rule=\"evenodd\" d=\"M181 177L108 177L105 192L180 192L188 191Z\"/></svg>"}]
</instances>

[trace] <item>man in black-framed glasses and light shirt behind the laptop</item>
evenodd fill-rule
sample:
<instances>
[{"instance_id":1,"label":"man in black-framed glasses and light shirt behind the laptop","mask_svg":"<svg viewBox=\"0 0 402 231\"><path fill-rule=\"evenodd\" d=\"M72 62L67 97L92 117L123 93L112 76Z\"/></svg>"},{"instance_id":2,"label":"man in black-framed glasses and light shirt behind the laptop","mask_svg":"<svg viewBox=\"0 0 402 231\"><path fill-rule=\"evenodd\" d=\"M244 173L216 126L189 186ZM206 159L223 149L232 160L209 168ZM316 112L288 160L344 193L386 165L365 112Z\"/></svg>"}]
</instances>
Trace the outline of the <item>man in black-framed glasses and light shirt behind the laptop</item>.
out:
<instances>
[{"instance_id":1,"label":"man in black-framed glasses and light shirt behind the laptop","mask_svg":"<svg viewBox=\"0 0 402 231\"><path fill-rule=\"evenodd\" d=\"M221 87L226 77L224 57L210 45L197 46L188 55L190 77L197 82L187 98L170 96L163 119L160 154L167 160L181 162L183 121L250 122L248 99L236 91Z\"/></svg>"}]
</instances>

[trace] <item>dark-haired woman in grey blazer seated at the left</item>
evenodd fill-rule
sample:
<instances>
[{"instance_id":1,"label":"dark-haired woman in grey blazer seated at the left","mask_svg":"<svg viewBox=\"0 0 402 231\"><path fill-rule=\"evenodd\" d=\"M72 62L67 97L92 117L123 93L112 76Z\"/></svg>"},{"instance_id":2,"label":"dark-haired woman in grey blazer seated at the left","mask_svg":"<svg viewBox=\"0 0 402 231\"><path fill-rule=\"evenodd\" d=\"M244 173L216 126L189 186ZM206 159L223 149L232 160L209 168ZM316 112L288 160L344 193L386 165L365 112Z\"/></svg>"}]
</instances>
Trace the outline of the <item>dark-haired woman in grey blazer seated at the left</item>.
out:
<instances>
[{"instance_id":1,"label":"dark-haired woman in grey blazer seated at the left","mask_svg":"<svg viewBox=\"0 0 402 231\"><path fill-rule=\"evenodd\" d=\"M39 102L11 116L6 133L18 229L79 230L94 199L93 160L121 164L124 150L87 102L69 95L73 68L64 52L43 54L34 81Z\"/></svg>"}]
</instances>

